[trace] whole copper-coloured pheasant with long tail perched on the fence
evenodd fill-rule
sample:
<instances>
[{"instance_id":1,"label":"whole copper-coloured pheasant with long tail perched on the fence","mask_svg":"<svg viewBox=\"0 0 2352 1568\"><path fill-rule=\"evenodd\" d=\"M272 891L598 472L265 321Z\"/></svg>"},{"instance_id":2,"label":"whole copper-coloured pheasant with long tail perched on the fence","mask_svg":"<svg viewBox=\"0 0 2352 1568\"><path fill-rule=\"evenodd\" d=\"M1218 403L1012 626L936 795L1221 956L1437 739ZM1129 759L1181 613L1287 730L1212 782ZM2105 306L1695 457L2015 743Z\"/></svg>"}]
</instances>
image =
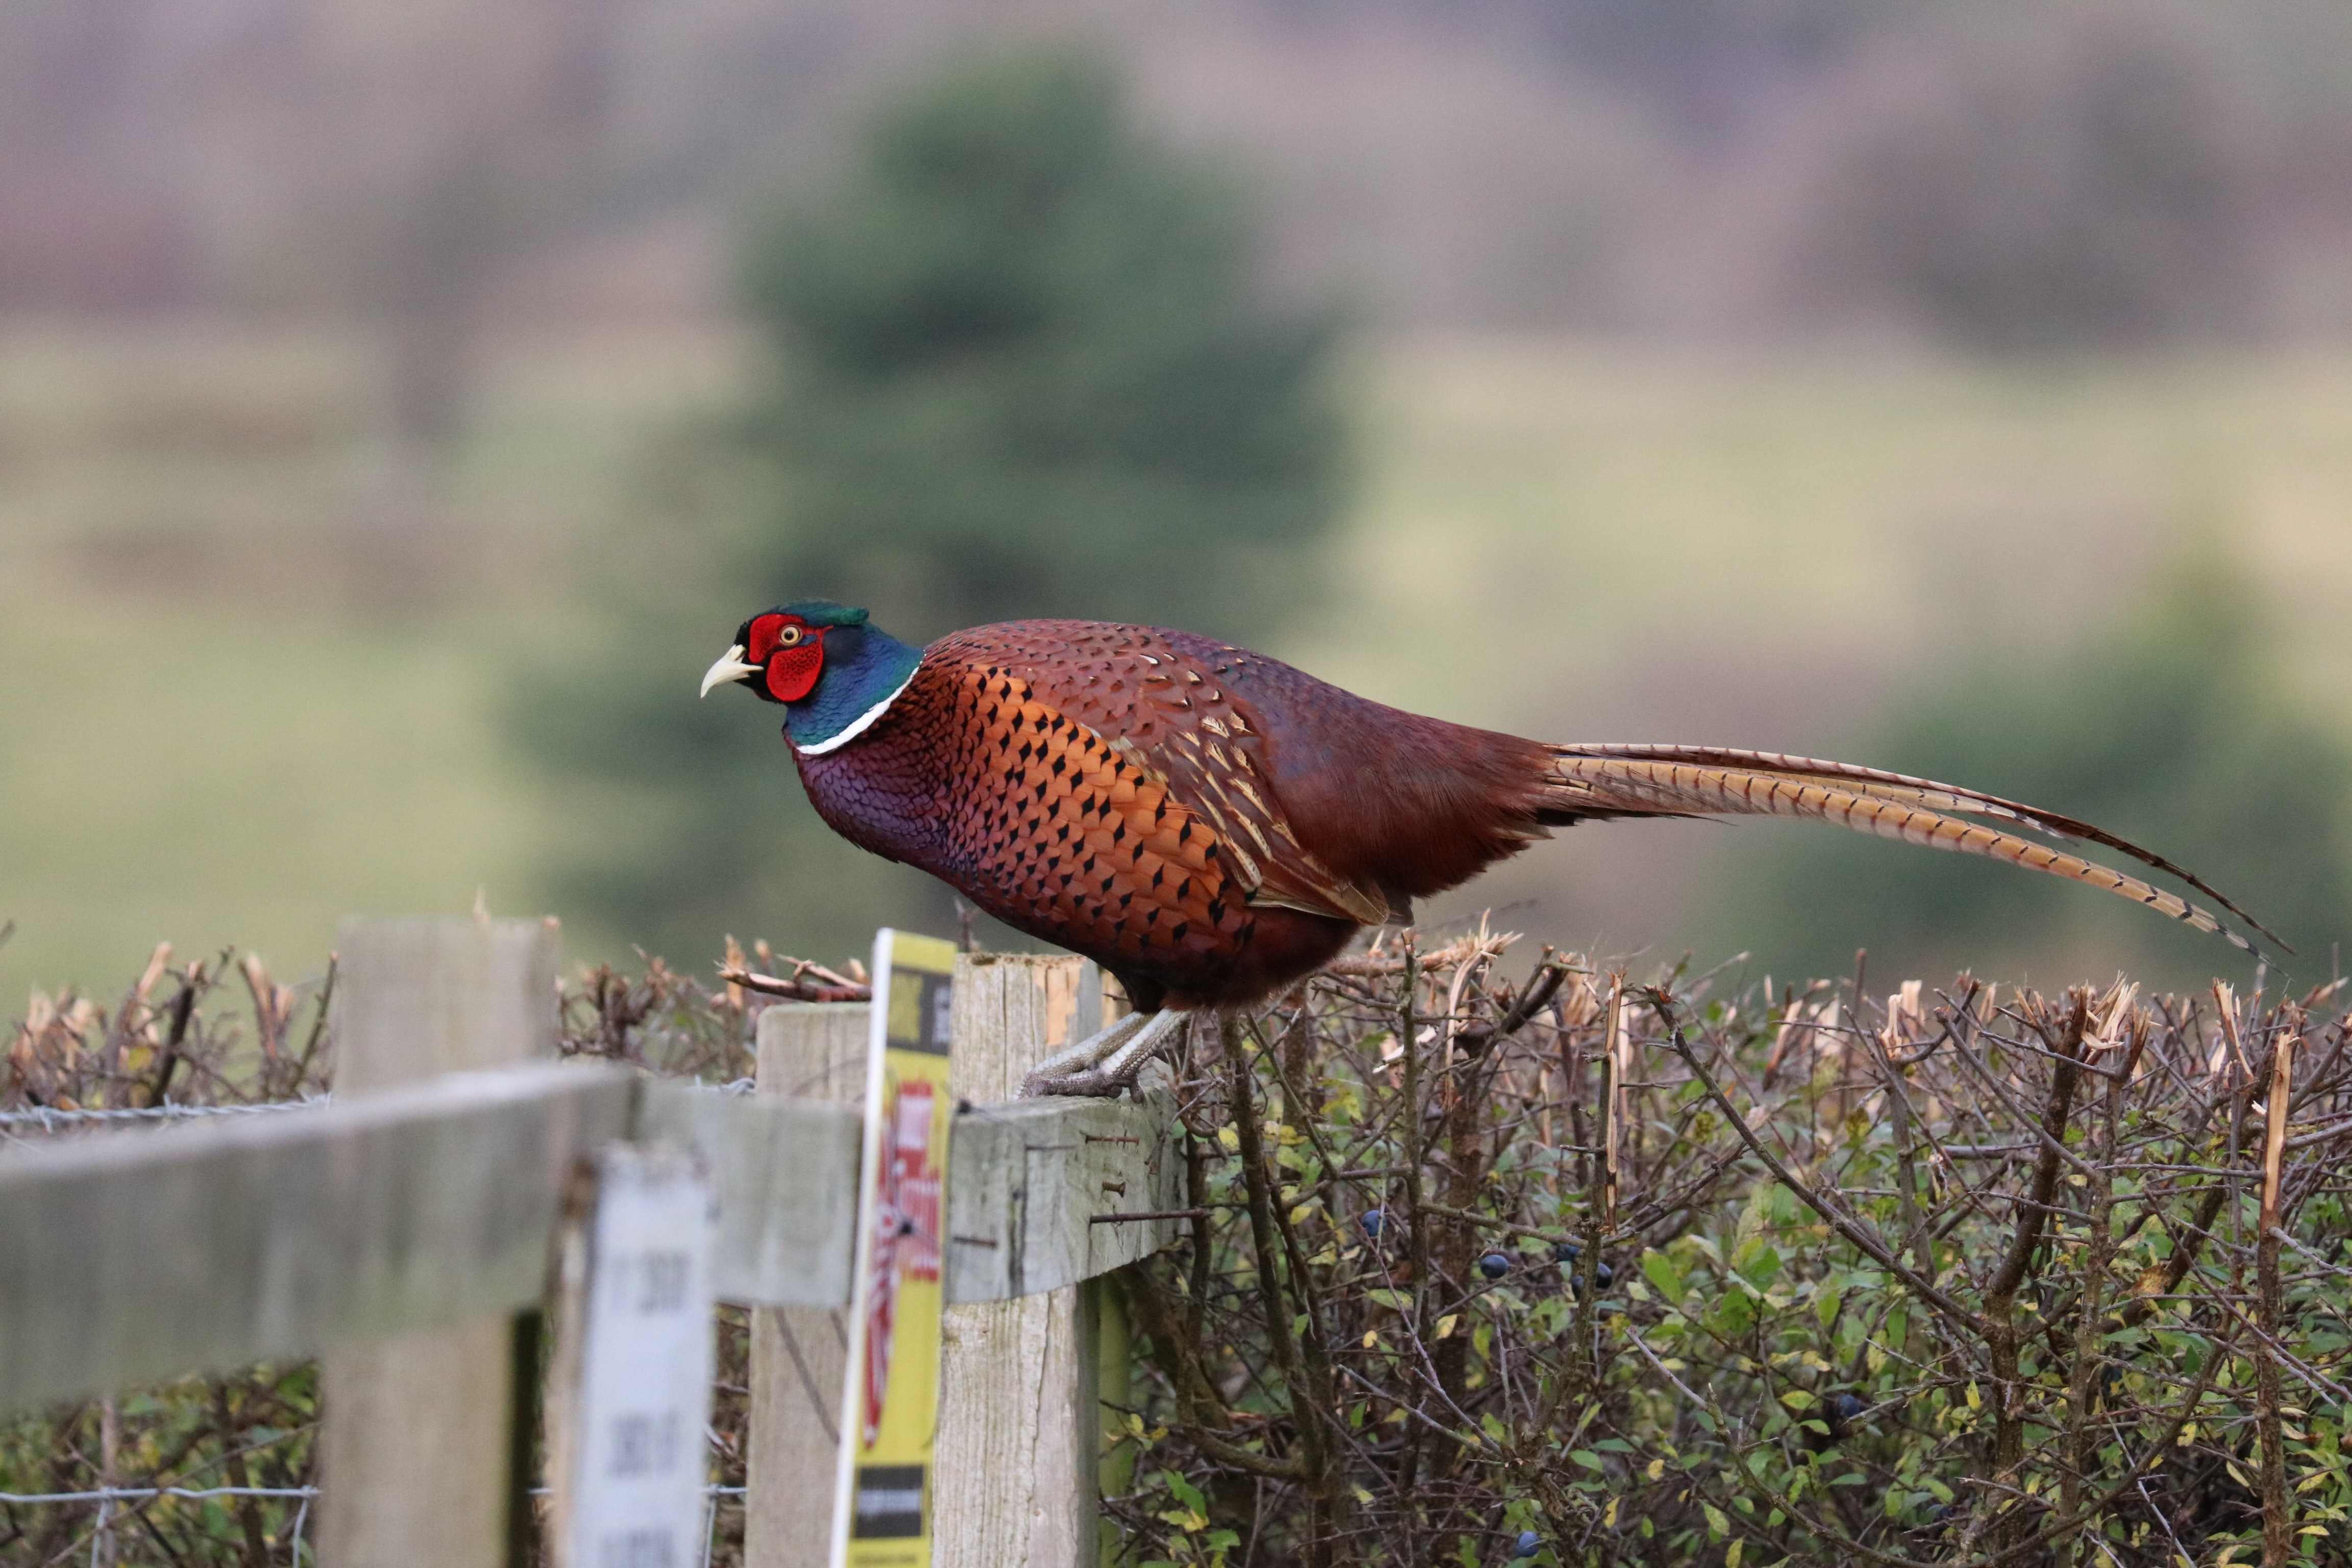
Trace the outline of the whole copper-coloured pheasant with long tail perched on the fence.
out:
<instances>
[{"instance_id":1,"label":"whole copper-coloured pheasant with long tail perched on the fence","mask_svg":"<svg viewBox=\"0 0 2352 1568\"><path fill-rule=\"evenodd\" d=\"M2169 872L2263 931L2171 860L1980 790L1722 745L1522 741L1148 625L1011 621L915 649L863 609L800 599L746 621L703 696L729 682L783 705L835 832L1127 987L1136 1013L1040 1063L1030 1093L1117 1093L1185 1016L1258 1001L1583 820L1818 818L2089 882L2253 950L2034 832Z\"/></svg>"}]
</instances>

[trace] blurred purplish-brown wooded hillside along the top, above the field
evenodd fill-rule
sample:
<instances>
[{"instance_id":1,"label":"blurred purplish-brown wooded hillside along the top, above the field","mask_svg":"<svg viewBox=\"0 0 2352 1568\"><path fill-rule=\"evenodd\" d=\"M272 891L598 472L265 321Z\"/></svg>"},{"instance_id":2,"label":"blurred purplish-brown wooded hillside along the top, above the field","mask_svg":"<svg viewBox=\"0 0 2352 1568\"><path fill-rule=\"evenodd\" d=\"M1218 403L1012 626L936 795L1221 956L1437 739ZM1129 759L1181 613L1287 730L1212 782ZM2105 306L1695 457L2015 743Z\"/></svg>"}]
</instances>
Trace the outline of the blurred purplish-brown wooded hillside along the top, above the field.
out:
<instances>
[{"instance_id":1,"label":"blurred purplish-brown wooded hillside along the top, above the field","mask_svg":"<svg viewBox=\"0 0 2352 1568\"><path fill-rule=\"evenodd\" d=\"M1964 343L2352 320L2352 14L2249 0L19 0L0 308L727 306L729 230L976 42L1087 38L1383 320ZM405 402L402 402L405 400Z\"/></svg>"}]
</instances>

